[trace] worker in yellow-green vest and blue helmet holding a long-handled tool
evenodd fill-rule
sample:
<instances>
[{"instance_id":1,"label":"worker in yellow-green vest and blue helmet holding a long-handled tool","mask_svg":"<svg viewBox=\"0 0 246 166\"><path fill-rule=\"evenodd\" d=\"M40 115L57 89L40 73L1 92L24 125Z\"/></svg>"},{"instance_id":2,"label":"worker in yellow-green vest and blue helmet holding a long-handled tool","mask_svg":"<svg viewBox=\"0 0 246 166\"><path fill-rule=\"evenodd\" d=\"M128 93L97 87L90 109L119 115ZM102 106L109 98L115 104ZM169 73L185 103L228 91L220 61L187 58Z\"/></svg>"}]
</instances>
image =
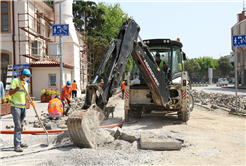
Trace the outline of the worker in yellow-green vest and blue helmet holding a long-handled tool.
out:
<instances>
[{"instance_id":1,"label":"worker in yellow-green vest and blue helmet holding a long-handled tool","mask_svg":"<svg viewBox=\"0 0 246 166\"><path fill-rule=\"evenodd\" d=\"M30 70L23 69L20 78L15 78L11 81L9 94L11 95L11 114L14 120L14 150L23 152L22 147L27 147L27 144L21 142L21 133L23 131L23 122L26 117L26 99L28 93L29 77L32 77ZM29 101L35 107L34 101Z\"/></svg>"}]
</instances>

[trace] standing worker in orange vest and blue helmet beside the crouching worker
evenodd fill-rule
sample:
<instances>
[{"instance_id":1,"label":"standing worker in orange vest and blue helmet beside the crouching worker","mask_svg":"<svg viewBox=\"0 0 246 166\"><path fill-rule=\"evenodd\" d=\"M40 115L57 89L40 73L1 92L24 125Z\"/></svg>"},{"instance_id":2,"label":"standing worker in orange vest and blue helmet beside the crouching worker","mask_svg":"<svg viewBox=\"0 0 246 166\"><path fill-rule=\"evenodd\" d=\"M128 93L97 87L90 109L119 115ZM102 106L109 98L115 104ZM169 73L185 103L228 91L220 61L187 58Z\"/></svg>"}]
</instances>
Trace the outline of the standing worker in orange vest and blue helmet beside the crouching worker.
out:
<instances>
[{"instance_id":1,"label":"standing worker in orange vest and blue helmet beside the crouching worker","mask_svg":"<svg viewBox=\"0 0 246 166\"><path fill-rule=\"evenodd\" d=\"M62 104L63 104L63 115L68 115L68 111L71 107L71 91L72 91L72 87L71 87L71 81L67 81L67 84L64 85L62 88L61 88L61 94L60 94L60 98L61 98L61 101L62 101ZM66 110L66 112L64 111L65 110L65 104L68 104L68 108Z\"/></svg>"}]
</instances>

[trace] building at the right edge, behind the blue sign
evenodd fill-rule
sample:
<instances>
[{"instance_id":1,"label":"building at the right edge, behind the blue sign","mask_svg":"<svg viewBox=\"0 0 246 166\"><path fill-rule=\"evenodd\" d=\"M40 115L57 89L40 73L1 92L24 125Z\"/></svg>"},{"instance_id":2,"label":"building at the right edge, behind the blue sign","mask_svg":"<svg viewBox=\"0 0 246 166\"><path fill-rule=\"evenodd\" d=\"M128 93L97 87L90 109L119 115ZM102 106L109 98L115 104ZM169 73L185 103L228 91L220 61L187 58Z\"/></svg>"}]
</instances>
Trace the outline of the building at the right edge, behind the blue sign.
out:
<instances>
[{"instance_id":1,"label":"building at the right edge, behind the blue sign","mask_svg":"<svg viewBox=\"0 0 246 166\"><path fill-rule=\"evenodd\" d=\"M232 36L234 35L246 35L246 17L245 11L238 14L238 22L231 28L231 43ZM235 48L232 47L235 52ZM246 47L237 47L237 72L238 82L241 82L241 86L246 86Z\"/></svg>"}]
</instances>

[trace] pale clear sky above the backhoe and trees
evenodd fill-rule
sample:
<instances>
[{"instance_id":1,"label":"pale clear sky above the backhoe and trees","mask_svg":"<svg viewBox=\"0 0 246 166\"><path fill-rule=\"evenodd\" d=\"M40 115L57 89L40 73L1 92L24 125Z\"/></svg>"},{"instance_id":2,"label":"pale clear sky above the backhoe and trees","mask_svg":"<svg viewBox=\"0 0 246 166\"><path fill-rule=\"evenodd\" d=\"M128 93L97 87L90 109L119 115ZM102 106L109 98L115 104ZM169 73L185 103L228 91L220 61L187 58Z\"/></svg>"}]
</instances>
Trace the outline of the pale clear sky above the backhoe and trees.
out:
<instances>
[{"instance_id":1,"label":"pale clear sky above the backhoe and trees","mask_svg":"<svg viewBox=\"0 0 246 166\"><path fill-rule=\"evenodd\" d=\"M95 1L96 2L96 1ZM243 11L243 0L105 0L119 3L132 16L144 39L180 38L186 56L219 59L230 55L231 28Z\"/></svg>"}]
</instances>

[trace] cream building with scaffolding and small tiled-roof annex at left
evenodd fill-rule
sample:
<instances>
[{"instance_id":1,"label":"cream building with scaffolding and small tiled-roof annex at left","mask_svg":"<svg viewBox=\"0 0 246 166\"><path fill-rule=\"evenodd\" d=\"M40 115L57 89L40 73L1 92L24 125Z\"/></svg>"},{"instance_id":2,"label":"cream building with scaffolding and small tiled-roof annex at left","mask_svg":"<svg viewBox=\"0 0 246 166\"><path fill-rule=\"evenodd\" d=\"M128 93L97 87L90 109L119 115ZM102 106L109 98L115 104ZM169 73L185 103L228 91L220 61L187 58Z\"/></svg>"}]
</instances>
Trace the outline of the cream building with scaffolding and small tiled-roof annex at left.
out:
<instances>
[{"instance_id":1,"label":"cream building with scaffolding and small tiled-roof annex at left","mask_svg":"<svg viewBox=\"0 0 246 166\"><path fill-rule=\"evenodd\" d=\"M54 2L59 0L54 0ZM72 0L62 2L62 23L69 24L63 36L63 85L76 80L79 91L87 84L87 56L82 55L83 36L74 27ZM41 90L60 89L60 58L50 56L52 24L59 24L59 3L52 8L45 0L0 0L0 81L6 86L7 65L30 64L30 93L40 99Z\"/></svg>"}]
</instances>

